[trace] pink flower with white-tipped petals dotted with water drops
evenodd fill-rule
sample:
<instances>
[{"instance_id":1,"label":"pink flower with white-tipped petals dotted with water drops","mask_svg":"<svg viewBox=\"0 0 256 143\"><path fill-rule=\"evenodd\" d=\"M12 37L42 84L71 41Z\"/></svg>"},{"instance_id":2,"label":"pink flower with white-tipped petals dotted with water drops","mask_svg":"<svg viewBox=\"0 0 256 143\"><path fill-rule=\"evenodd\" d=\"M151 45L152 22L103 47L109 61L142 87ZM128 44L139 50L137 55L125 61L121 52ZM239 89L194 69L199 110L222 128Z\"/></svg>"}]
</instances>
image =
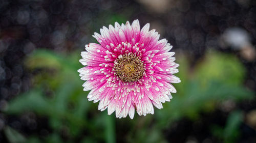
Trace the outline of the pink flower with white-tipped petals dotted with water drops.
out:
<instances>
[{"instance_id":1,"label":"pink flower with white-tipped petals dotted with water drops","mask_svg":"<svg viewBox=\"0 0 256 143\"><path fill-rule=\"evenodd\" d=\"M166 39L159 40L155 30L148 31L150 24L140 30L138 20L132 25L115 23L109 29L103 26L100 34L93 37L99 42L86 45L80 62L86 66L78 70L89 101L98 102L98 109L108 108L108 114L116 111L117 118L131 119L135 110L138 115L154 114L153 105L161 109L176 93L170 83L180 82L174 76L175 53Z\"/></svg>"}]
</instances>

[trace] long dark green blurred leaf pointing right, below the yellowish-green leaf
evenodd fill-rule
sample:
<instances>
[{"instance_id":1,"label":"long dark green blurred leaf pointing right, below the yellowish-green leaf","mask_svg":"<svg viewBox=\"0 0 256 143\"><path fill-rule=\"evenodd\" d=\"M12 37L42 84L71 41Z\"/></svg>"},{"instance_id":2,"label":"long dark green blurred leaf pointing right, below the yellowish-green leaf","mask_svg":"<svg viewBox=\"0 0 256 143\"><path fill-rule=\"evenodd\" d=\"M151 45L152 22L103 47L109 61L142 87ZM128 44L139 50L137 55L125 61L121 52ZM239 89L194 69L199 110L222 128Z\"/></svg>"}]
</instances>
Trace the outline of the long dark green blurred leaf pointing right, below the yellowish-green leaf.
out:
<instances>
[{"instance_id":1,"label":"long dark green blurred leaf pointing right, below the yellowish-green leaf","mask_svg":"<svg viewBox=\"0 0 256 143\"><path fill-rule=\"evenodd\" d=\"M184 89L185 95L176 95L170 103L164 104L162 110L156 109L158 125L164 127L182 117L197 119L201 111L211 111L217 102L223 100L240 101L253 98L253 92L241 86L226 85L216 81L209 81L208 85L202 88L203 85L199 82L191 81Z\"/></svg>"}]
</instances>

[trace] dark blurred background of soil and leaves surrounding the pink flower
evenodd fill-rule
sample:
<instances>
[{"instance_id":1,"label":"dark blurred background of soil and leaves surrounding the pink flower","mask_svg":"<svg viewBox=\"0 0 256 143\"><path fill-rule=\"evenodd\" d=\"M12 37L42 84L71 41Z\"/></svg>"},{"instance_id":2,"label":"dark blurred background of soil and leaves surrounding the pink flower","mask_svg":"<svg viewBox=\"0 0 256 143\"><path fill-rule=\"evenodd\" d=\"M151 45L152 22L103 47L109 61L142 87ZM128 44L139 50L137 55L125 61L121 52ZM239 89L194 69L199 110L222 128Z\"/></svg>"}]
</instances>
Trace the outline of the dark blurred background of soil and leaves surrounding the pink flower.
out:
<instances>
[{"instance_id":1,"label":"dark blurred background of soil and leaves surrounding the pink flower","mask_svg":"<svg viewBox=\"0 0 256 143\"><path fill-rule=\"evenodd\" d=\"M116 119L77 70L105 25L139 19L173 46L181 83L155 115ZM256 142L256 1L0 0L0 142Z\"/></svg>"}]
</instances>

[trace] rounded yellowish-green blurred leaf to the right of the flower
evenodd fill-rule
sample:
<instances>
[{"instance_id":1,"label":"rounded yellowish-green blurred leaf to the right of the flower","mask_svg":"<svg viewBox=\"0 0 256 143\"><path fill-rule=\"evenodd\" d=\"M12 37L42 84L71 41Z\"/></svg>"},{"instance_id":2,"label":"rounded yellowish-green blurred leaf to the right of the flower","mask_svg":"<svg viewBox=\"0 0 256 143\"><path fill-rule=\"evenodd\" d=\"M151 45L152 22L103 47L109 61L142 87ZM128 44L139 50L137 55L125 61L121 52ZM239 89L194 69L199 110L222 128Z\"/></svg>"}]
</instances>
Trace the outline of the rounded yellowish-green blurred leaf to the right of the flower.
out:
<instances>
[{"instance_id":1,"label":"rounded yellowish-green blurred leaf to the right of the flower","mask_svg":"<svg viewBox=\"0 0 256 143\"><path fill-rule=\"evenodd\" d=\"M215 79L227 84L239 85L243 83L245 68L232 54L208 51L204 60L195 68L195 78L203 84Z\"/></svg>"}]
</instances>

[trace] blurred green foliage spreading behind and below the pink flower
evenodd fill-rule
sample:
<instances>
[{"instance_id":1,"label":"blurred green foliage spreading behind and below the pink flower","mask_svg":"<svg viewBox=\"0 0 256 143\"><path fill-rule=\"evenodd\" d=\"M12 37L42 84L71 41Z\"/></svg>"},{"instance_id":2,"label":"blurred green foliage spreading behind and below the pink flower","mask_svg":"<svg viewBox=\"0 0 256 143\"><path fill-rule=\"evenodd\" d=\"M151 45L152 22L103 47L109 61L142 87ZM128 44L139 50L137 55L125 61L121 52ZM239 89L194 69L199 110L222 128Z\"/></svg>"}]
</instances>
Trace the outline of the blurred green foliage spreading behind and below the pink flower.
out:
<instances>
[{"instance_id":1,"label":"blurred green foliage spreading behind and below the pink flower","mask_svg":"<svg viewBox=\"0 0 256 143\"><path fill-rule=\"evenodd\" d=\"M214 110L217 103L239 102L252 98L253 94L243 87L245 69L235 56L209 51L191 68L189 59L178 54L180 72L176 76L181 83L175 84L177 94L173 94L174 98L164 103L163 109L155 108L155 115L135 116L134 120L116 119L115 115L98 111L98 103L87 100L89 92L82 91L83 81L77 72L82 67L78 53L62 55L36 50L25 61L28 69L40 74L33 78L34 88L13 99L6 112L14 115L35 112L39 117L47 117L52 129L48 136L33 134L26 142L77 142L78 139L81 142L115 142L116 136L122 142L167 142L164 130L175 121L184 117L196 121L200 112ZM239 134L241 122L241 112L232 112L226 127L215 126L212 134L227 143L232 142L236 139L233 136ZM68 139L63 139L63 130ZM17 132L6 128L8 138L22 136L15 134Z\"/></svg>"}]
</instances>

